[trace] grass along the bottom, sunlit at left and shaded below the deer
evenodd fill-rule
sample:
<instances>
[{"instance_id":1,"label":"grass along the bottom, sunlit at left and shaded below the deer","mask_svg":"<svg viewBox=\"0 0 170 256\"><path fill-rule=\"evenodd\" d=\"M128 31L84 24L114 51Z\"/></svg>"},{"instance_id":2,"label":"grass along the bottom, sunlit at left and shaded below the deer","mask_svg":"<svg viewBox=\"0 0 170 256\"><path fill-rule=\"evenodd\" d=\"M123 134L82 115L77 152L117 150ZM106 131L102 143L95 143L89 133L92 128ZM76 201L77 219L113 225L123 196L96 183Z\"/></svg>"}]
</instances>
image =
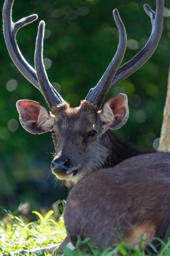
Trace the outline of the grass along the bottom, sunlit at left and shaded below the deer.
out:
<instances>
[{"instance_id":1,"label":"grass along the bottom, sunlit at left and shaded below the deer","mask_svg":"<svg viewBox=\"0 0 170 256\"><path fill-rule=\"evenodd\" d=\"M6 210L5 210L6 211ZM36 247L46 247L60 243L66 236L64 227L63 216L59 218L54 217L54 212L48 211L47 213L39 213L33 211L36 220L28 222L28 219L23 215L15 215L10 211L2 220L0 220L0 255L10 256L10 252L15 252L19 249L34 249ZM77 248L72 251L65 248L65 256L146 256L153 255L149 250L143 249L142 244L145 238L141 240L141 249L133 248L126 243L117 244L115 248L107 248L103 252L97 247L93 247L88 243L88 240L79 241ZM158 252L157 248L152 247L154 255L156 256L170 256L170 238L168 243L161 243L161 251ZM83 251L81 248L84 248ZM89 248L91 252L89 252ZM29 256L30 254L24 254ZM43 253L41 256L50 256L50 254Z\"/></svg>"}]
</instances>

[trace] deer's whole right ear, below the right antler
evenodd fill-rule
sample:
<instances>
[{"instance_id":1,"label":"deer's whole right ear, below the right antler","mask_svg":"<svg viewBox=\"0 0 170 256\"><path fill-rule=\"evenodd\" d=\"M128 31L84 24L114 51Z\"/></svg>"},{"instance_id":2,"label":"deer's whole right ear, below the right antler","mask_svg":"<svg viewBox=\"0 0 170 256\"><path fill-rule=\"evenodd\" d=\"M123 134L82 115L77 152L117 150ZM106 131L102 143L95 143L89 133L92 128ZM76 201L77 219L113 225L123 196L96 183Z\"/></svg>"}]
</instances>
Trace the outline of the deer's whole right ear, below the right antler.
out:
<instances>
[{"instance_id":1,"label":"deer's whole right ear, below the right antler","mask_svg":"<svg viewBox=\"0 0 170 256\"><path fill-rule=\"evenodd\" d=\"M128 117L128 99L124 93L111 97L104 104L103 109L100 112L100 119L105 131L108 128L113 130L119 129L126 123Z\"/></svg>"}]
</instances>

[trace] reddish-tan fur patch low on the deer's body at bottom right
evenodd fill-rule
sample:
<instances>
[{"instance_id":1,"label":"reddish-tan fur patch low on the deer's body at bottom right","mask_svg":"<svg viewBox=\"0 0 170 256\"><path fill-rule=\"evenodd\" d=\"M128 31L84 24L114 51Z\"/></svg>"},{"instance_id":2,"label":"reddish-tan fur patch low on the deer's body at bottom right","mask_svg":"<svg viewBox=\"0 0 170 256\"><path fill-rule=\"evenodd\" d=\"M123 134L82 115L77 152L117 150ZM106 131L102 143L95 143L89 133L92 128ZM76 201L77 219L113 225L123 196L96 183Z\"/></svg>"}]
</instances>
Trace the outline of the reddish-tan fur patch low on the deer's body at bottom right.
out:
<instances>
[{"instance_id":1,"label":"reddish-tan fur patch low on the deer's body at bottom right","mask_svg":"<svg viewBox=\"0 0 170 256\"><path fill-rule=\"evenodd\" d=\"M147 242L152 242L156 235L156 225L152 221L146 221L142 224L136 225L129 232L127 236L127 243L133 247L140 247L140 239L146 236L146 242L143 243L144 247L148 245Z\"/></svg>"}]
</instances>

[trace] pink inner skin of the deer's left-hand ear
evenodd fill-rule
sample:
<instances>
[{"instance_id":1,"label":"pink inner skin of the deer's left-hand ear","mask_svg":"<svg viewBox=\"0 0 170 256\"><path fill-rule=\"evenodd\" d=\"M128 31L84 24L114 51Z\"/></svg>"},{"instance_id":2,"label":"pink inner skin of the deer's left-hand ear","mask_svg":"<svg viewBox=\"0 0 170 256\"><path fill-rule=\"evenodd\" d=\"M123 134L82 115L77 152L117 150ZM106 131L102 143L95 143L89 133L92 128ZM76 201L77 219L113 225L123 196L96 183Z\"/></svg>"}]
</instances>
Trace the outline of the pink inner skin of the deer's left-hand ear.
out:
<instances>
[{"instance_id":1,"label":"pink inner skin of the deer's left-hand ear","mask_svg":"<svg viewBox=\"0 0 170 256\"><path fill-rule=\"evenodd\" d=\"M17 110L25 121L37 121L39 115L39 105L34 101L18 101Z\"/></svg>"}]
</instances>

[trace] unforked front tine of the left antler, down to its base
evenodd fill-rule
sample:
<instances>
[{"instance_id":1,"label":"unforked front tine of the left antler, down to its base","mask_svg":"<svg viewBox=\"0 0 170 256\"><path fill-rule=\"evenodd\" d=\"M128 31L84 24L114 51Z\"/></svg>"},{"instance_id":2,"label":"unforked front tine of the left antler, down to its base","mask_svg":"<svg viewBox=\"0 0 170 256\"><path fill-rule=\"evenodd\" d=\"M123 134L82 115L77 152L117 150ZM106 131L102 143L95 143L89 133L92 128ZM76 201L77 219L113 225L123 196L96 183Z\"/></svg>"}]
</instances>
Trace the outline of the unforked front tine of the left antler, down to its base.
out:
<instances>
[{"instance_id":1,"label":"unforked front tine of the left antler, down to its base","mask_svg":"<svg viewBox=\"0 0 170 256\"><path fill-rule=\"evenodd\" d=\"M64 103L65 101L62 99L60 94L58 94L57 91L52 87L46 74L43 63L44 28L45 22L44 20L41 20L41 22L39 22L35 47L35 70L37 72L37 78L44 98L48 102L49 107L52 108L54 106L57 106L58 104Z\"/></svg>"}]
</instances>

